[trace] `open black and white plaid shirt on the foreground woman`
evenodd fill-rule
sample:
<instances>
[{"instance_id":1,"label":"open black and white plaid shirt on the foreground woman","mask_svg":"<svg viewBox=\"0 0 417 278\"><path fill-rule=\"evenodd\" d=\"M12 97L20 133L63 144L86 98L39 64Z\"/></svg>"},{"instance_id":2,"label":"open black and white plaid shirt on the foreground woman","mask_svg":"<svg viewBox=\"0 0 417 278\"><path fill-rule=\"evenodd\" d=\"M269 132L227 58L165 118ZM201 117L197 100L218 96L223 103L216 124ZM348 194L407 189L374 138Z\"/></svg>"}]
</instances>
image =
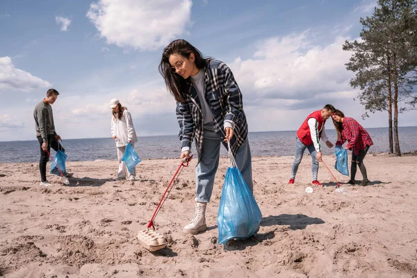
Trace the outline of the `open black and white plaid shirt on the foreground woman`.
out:
<instances>
[{"instance_id":1,"label":"open black and white plaid shirt on the foreground woman","mask_svg":"<svg viewBox=\"0 0 417 278\"><path fill-rule=\"evenodd\" d=\"M179 122L179 140L181 147L190 147L195 138L199 158L202 152L204 118L202 104L197 90L190 80L185 103L177 102L177 120ZM247 137L247 121L243 112L242 94L234 76L224 63L211 60L204 69L204 95L213 114L214 129L220 139L224 139L224 120L234 122L234 136L230 140L231 152L236 155ZM223 142L223 141L222 141ZM227 143L223 142L227 148Z\"/></svg>"}]
</instances>

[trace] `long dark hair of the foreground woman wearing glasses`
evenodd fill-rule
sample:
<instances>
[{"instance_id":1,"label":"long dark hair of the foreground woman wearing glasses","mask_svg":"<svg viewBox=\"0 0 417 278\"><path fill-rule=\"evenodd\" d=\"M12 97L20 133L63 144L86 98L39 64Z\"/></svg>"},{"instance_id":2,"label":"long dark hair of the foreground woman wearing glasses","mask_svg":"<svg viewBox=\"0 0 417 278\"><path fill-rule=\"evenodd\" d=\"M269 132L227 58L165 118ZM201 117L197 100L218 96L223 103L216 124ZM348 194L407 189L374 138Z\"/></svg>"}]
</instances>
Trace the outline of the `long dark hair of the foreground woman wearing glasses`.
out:
<instances>
[{"instance_id":1,"label":"long dark hair of the foreground woman wearing glasses","mask_svg":"<svg viewBox=\"0 0 417 278\"><path fill-rule=\"evenodd\" d=\"M171 95L174 96L177 102L184 103L186 101L186 93L190 88L189 82L186 79L183 79L182 76L171 72L171 65L169 58L172 54L181 55L185 58L190 58L190 54L195 56L195 66L197 69L201 70L204 67L207 67L210 60L213 60L211 57L203 58L202 53L193 47L190 42L186 40L173 40L170 44L163 49L163 54L161 58L161 63L159 63L159 73L162 75L167 89L170 91Z\"/></svg>"}]
</instances>

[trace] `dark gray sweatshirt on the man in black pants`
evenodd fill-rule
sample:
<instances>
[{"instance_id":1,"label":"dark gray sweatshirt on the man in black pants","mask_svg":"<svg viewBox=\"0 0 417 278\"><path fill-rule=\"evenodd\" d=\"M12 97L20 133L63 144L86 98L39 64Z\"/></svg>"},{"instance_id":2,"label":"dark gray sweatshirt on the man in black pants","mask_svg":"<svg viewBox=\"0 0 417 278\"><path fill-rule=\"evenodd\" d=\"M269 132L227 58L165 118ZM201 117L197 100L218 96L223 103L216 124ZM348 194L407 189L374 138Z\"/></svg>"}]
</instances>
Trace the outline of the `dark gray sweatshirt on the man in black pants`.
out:
<instances>
[{"instance_id":1,"label":"dark gray sweatshirt on the man in black pants","mask_svg":"<svg viewBox=\"0 0 417 278\"><path fill-rule=\"evenodd\" d=\"M36 137L41 136L44 142L48 142L48 135L56 134L51 104L47 104L43 100L40 101L33 110L33 117L35 118Z\"/></svg>"}]
</instances>

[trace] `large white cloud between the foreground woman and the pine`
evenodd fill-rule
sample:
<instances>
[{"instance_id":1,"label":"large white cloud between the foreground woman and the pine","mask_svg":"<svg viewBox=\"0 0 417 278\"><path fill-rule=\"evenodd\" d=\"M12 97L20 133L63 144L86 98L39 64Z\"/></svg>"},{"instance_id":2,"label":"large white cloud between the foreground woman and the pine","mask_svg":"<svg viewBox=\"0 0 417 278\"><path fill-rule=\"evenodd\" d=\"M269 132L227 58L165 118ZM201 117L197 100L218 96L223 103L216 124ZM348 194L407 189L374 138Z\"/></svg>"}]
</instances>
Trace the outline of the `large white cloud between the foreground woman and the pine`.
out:
<instances>
[{"instance_id":1,"label":"large white cloud between the foreground woman and the pine","mask_svg":"<svg viewBox=\"0 0 417 278\"><path fill-rule=\"evenodd\" d=\"M236 58L230 66L250 105L291 108L315 99L314 105L322 94L340 97L352 90L352 72L345 68L351 54L343 51L344 42L337 37L325 46L312 45L308 31L270 38L259 43L253 58Z\"/></svg>"}]
</instances>

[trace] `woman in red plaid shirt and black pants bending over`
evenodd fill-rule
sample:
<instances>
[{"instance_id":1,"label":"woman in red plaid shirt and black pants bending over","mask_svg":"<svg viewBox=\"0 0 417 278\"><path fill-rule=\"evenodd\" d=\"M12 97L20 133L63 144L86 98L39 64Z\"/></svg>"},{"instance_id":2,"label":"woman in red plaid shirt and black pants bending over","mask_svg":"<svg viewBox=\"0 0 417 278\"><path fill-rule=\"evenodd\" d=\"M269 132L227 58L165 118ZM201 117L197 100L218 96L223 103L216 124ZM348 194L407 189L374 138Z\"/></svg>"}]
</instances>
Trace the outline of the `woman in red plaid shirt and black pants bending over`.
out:
<instances>
[{"instance_id":1,"label":"woman in red plaid shirt and black pants bending over","mask_svg":"<svg viewBox=\"0 0 417 278\"><path fill-rule=\"evenodd\" d=\"M367 186L369 183L366 175L366 167L363 164L363 158L370 146L373 145L372 139L357 120L352 117L345 117L342 111L337 110L332 115L334 127L337 131L336 145L343 145L346 141L346 149L352 151L352 165L350 167L350 181L347 183L354 184L354 176L356 175L357 166L361 170L363 181L361 186Z\"/></svg>"}]
</instances>

